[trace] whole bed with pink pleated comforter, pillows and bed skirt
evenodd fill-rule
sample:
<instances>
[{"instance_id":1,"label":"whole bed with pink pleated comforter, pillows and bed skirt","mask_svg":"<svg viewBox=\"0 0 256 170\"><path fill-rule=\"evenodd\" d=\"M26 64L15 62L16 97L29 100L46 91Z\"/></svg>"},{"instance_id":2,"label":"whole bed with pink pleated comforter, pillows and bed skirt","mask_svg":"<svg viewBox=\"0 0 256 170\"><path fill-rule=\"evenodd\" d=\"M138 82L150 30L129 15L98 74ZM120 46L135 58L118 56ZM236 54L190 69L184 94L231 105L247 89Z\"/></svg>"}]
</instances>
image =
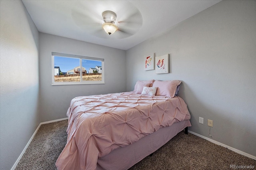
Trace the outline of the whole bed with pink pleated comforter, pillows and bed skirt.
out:
<instances>
[{"instance_id":1,"label":"whole bed with pink pleated comforter, pillows and bed skirt","mask_svg":"<svg viewBox=\"0 0 256 170\"><path fill-rule=\"evenodd\" d=\"M180 83L137 81L134 91L72 99L58 170L126 170L190 127Z\"/></svg>"}]
</instances>

